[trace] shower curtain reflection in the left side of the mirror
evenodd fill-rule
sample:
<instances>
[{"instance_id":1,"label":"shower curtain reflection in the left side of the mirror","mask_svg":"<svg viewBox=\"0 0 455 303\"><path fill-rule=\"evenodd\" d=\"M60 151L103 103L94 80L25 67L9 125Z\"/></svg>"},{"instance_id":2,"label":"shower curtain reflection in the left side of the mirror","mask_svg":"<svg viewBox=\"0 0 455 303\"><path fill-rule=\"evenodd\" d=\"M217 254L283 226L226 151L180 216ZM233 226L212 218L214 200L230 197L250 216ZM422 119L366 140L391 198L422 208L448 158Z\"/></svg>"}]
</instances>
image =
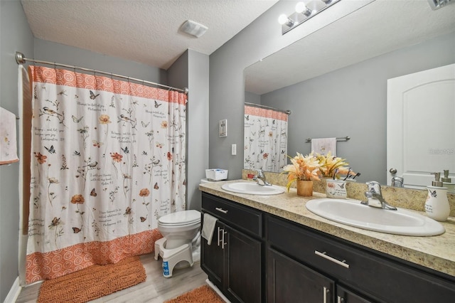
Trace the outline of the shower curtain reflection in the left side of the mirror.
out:
<instances>
[{"instance_id":1,"label":"shower curtain reflection in the left side of the mirror","mask_svg":"<svg viewBox=\"0 0 455 303\"><path fill-rule=\"evenodd\" d=\"M282 171L287 164L287 116L277 110L245 105L245 169Z\"/></svg>"}]
</instances>

